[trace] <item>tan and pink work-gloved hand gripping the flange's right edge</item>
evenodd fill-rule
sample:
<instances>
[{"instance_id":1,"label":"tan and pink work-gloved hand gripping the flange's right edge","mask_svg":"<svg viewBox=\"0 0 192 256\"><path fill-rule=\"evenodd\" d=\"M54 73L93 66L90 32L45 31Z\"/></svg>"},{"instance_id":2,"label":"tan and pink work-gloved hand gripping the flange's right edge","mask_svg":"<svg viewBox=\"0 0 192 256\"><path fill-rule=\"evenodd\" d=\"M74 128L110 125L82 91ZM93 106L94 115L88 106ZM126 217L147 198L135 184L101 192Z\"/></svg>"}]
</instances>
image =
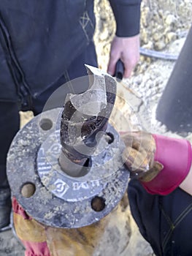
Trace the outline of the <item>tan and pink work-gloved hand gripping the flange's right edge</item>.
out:
<instances>
[{"instance_id":1,"label":"tan and pink work-gloved hand gripping the flange's right edge","mask_svg":"<svg viewBox=\"0 0 192 256\"><path fill-rule=\"evenodd\" d=\"M123 160L151 194L167 195L179 187L191 167L188 140L151 135L147 132L121 132L126 144Z\"/></svg>"}]
</instances>

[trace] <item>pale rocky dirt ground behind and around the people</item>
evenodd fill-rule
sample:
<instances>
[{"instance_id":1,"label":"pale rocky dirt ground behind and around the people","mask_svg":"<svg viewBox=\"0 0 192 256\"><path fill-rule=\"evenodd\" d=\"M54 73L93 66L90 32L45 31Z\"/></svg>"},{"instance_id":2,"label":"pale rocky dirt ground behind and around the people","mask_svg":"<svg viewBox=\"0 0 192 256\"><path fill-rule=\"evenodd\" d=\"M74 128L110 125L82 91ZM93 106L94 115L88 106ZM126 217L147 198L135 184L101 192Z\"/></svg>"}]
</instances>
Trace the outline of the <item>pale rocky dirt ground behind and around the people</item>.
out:
<instances>
[{"instance_id":1,"label":"pale rocky dirt ground behind and around the people","mask_svg":"<svg viewBox=\"0 0 192 256\"><path fill-rule=\"evenodd\" d=\"M115 33L115 21L107 0L96 0L95 10L97 26L94 39L99 67L106 70L110 53L110 42ZM178 55L185 42L188 29L191 26L191 17L191 0L142 1L141 46L150 50L157 50L161 53L174 53ZM130 118L134 128L143 127L149 132L177 136L172 135L171 132L166 130L164 125L159 124L155 120L154 115L158 99L164 91L174 63L175 61L141 55L139 64L131 78L123 80L123 83L118 85L119 97L115 110L121 110L123 116ZM134 91L134 93L130 90ZM131 108L127 108L127 102L123 98L130 99ZM132 111L133 105L136 107L134 115ZM142 105L142 108L137 109L138 105ZM114 117L119 129L126 129L126 127L123 127L121 116L118 116L117 112L114 112ZM141 114L145 118L142 118ZM21 126L33 116L31 112L20 113L20 115ZM191 138L191 135L188 136L188 138ZM23 247L11 230L0 233L0 255L24 255ZM137 225L131 217L129 206L120 204L118 210L113 214L94 255L153 255L150 245L139 234Z\"/></svg>"}]
</instances>

